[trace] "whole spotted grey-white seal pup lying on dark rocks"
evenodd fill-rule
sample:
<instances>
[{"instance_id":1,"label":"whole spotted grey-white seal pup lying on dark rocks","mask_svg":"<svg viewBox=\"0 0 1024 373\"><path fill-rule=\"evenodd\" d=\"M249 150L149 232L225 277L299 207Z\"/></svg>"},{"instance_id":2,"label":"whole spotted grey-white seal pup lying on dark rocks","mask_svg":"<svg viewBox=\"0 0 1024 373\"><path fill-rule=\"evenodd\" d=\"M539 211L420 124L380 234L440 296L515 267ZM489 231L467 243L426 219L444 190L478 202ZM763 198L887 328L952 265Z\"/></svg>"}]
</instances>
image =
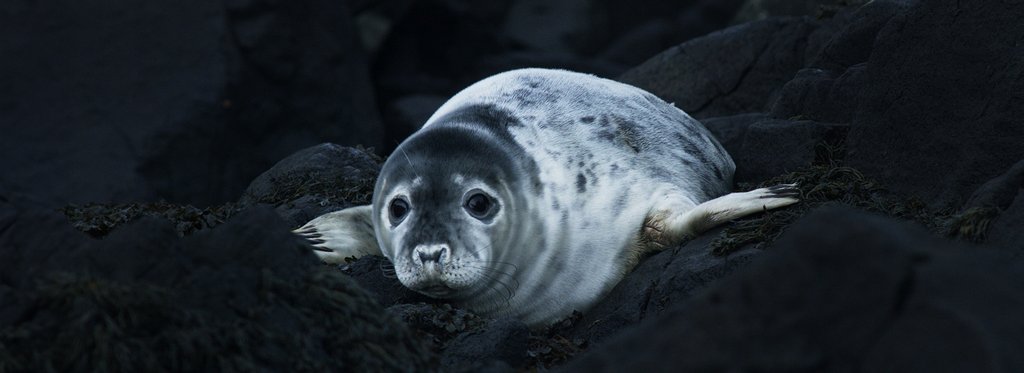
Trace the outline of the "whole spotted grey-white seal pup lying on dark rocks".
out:
<instances>
[{"instance_id":1,"label":"whole spotted grey-white seal pup lying on dark rocks","mask_svg":"<svg viewBox=\"0 0 1024 373\"><path fill-rule=\"evenodd\" d=\"M586 310L646 252L796 203L732 193L699 122L639 88L524 69L441 106L384 163L373 203L296 230L325 261L384 255L402 285L544 326Z\"/></svg>"}]
</instances>

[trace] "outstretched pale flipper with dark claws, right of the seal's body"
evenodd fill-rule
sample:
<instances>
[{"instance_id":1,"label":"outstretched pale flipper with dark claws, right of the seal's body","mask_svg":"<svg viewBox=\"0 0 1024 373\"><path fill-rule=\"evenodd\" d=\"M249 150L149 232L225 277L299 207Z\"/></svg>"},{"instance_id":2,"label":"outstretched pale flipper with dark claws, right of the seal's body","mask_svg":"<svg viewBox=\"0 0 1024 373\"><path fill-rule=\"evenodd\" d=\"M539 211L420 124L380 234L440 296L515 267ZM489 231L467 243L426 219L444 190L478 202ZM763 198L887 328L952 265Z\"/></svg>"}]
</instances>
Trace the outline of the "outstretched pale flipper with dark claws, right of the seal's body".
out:
<instances>
[{"instance_id":1,"label":"outstretched pale flipper with dark claws, right of the seal's body","mask_svg":"<svg viewBox=\"0 0 1024 373\"><path fill-rule=\"evenodd\" d=\"M730 193L696 206L670 196L669 207L649 214L643 231L655 248L675 245L726 221L795 204L799 197L795 183Z\"/></svg>"}]
</instances>

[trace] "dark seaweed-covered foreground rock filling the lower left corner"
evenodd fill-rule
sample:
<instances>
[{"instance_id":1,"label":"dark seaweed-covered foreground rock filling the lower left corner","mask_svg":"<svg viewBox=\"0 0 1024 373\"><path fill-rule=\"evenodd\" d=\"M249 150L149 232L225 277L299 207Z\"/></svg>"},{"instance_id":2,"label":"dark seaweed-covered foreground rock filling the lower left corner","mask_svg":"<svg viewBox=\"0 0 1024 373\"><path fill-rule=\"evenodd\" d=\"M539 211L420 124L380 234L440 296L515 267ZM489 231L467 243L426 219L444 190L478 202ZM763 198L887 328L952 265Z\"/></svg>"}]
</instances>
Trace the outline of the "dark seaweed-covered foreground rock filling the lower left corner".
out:
<instances>
[{"instance_id":1,"label":"dark seaweed-covered foreground rock filling the lower left corner","mask_svg":"<svg viewBox=\"0 0 1024 373\"><path fill-rule=\"evenodd\" d=\"M0 361L25 370L424 370L418 337L269 209L92 240L50 212L0 238ZM45 335L46 338L39 336Z\"/></svg>"}]
</instances>

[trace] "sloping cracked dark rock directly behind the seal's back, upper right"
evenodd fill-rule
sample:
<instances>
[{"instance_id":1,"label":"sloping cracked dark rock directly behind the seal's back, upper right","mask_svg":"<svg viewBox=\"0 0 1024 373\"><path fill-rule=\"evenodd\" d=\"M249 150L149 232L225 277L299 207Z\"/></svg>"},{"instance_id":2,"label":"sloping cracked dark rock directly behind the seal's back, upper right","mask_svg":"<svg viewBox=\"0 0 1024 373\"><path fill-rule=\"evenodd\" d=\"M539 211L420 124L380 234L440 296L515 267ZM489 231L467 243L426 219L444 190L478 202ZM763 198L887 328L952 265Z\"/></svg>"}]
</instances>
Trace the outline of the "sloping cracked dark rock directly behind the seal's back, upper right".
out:
<instances>
[{"instance_id":1,"label":"sloping cracked dark rock directly behind the seal's back, upper right","mask_svg":"<svg viewBox=\"0 0 1024 373\"><path fill-rule=\"evenodd\" d=\"M674 102L695 118L763 112L804 66L808 18L772 18L693 39L618 80Z\"/></svg>"}]
</instances>

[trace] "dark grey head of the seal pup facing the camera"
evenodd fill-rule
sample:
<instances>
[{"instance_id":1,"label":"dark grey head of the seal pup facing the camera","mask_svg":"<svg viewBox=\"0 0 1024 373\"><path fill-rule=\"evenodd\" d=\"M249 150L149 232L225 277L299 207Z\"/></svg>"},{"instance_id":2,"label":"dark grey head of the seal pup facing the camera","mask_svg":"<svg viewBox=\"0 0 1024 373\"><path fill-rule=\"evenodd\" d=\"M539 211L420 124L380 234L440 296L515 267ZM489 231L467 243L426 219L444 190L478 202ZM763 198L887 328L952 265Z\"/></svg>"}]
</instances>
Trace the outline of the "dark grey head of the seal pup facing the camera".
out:
<instances>
[{"instance_id":1,"label":"dark grey head of the seal pup facing the camera","mask_svg":"<svg viewBox=\"0 0 1024 373\"><path fill-rule=\"evenodd\" d=\"M503 250L522 234L528 158L501 113L470 108L402 142L384 164L373 218L402 285L444 299L508 299L515 265ZM494 125L481 125L492 123ZM528 218L528 217L525 217ZM486 294L496 293L496 294ZM497 293L505 293L498 296Z\"/></svg>"}]
</instances>

